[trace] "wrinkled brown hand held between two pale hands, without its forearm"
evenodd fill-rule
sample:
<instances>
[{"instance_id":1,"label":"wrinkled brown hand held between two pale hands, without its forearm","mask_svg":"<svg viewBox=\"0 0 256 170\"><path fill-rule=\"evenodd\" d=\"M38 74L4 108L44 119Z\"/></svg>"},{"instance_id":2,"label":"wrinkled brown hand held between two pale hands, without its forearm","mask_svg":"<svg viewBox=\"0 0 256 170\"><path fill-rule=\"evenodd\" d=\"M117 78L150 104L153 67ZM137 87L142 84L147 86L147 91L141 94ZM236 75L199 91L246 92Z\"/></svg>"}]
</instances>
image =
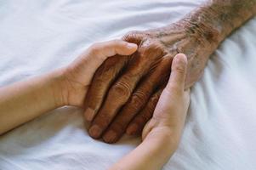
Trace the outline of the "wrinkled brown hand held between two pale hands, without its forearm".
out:
<instances>
[{"instance_id":1,"label":"wrinkled brown hand held between two pale hands, without its forearm","mask_svg":"<svg viewBox=\"0 0 256 170\"><path fill-rule=\"evenodd\" d=\"M153 31L134 31L123 39L139 48L130 58L110 58L94 75L85 102L84 116L92 122L89 134L113 143L128 134L141 133L151 118L161 87L167 82L175 54L187 54L189 65L185 87L201 76L207 61L201 37L174 25ZM201 46L200 46L201 44ZM190 62L190 61L193 62Z\"/></svg>"}]
</instances>

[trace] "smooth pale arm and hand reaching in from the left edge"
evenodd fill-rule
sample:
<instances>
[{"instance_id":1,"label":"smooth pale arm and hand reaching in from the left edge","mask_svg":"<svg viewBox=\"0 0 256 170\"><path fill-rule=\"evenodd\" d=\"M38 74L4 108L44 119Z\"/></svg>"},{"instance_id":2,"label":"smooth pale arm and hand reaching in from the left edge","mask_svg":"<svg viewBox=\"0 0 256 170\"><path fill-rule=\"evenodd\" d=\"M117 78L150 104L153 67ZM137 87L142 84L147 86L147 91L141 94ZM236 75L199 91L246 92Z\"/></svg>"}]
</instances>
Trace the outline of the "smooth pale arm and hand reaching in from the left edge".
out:
<instances>
[{"instance_id":1,"label":"smooth pale arm and hand reaching in from the left edge","mask_svg":"<svg viewBox=\"0 0 256 170\"><path fill-rule=\"evenodd\" d=\"M92 45L71 65L0 88L0 134L64 105L82 107L97 68L110 56L126 57L134 43L114 40Z\"/></svg>"}]
</instances>

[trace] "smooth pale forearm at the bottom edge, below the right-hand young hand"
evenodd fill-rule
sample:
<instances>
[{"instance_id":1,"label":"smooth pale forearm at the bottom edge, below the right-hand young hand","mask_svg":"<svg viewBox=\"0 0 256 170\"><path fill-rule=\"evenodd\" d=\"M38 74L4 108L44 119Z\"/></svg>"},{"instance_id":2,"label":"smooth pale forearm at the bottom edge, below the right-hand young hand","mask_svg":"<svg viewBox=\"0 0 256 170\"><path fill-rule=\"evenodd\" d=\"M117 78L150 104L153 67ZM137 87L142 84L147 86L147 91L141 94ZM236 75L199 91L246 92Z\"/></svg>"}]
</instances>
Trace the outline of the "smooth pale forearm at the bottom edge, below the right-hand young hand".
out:
<instances>
[{"instance_id":1,"label":"smooth pale forearm at the bottom edge, below the right-hand young hand","mask_svg":"<svg viewBox=\"0 0 256 170\"><path fill-rule=\"evenodd\" d=\"M170 133L162 134L146 138L110 169L161 169L177 149L174 137Z\"/></svg>"}]
</instances>

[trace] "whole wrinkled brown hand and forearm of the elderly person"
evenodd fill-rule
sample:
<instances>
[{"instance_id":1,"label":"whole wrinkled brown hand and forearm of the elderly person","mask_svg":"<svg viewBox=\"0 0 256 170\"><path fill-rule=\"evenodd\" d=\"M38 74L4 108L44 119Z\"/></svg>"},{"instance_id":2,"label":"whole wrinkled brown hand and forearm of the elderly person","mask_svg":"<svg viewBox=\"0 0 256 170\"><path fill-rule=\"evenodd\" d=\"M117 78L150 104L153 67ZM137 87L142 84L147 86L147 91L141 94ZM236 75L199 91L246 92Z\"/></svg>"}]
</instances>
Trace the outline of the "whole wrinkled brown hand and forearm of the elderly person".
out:
<instances>
[{"instance_id":1,"label":"whole wrinkled brown hand and forearm of the elderly person","mask_svg":"<svg viewBox=\"0 0 256 170\"><path fill-rule=\"evenodd\" d=\"M188 57L186 88L201 76L210 54L231 31L256 13L256 0L212 0L170 26L132 31L123 37L137 43L132 56L113 56L94 75L85 102L89 134L113 143L141 133L151 118L175 54Z\"/></svg>"}]
</instances>

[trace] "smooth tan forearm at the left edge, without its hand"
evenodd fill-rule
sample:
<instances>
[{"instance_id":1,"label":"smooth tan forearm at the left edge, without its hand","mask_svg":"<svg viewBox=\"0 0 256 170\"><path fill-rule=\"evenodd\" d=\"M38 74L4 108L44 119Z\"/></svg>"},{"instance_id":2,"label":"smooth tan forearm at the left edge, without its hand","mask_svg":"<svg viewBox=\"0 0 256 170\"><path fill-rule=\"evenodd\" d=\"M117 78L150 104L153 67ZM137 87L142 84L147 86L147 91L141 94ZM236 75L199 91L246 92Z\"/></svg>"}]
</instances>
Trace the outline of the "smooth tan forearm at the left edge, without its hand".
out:
<instances>
[{"instance_id":1,"label":"smooth tan forearm at the left edge, without its hand","mask_svg":"<svg viewBox=\"0 0 256 170\"><path fill-rule=\"evenodd\" d=\"M0 88L0 134L62 105L60 71Z\"/></svg>"}]
</instances>

